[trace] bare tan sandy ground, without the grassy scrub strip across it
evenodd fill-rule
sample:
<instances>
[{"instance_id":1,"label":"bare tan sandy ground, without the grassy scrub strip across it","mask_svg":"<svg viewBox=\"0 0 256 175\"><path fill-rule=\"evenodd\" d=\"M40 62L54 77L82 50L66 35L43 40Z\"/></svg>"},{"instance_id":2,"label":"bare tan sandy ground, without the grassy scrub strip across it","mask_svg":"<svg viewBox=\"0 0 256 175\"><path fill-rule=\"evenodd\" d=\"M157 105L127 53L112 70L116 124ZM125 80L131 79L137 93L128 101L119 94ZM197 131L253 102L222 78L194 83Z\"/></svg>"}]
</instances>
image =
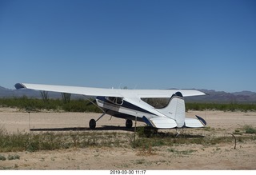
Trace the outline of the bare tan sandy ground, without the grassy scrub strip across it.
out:
<instances>
[{"instance_id":1,"label":"bare tan sandy ground, without the grassy scrub strip across it","mask_svg":"<svg viewBox=\"0 0 256 175\"><path fill-rule=\"evenodd\" d=\"M232 137L229 133L234 133L244 125L256 127L256 112L188 111L186 116L193 117L195 114L207 121L207 129L185 129L183 132L202 137ZM90 119L99 116L100 113L26 113L18 109L1 108L0 128L10 134L66 132L72 129L79 129L79 132L133 133L133 130L125 129L125 120L110 116L102 117L94 131L88 129ZM144 123L138 122L137 125ZM176 133L176 130L163 132ZM216 145L157 146L152 148L153 153L150 154L131 146L0 153L6 157L10 154L18 154L20 157L0 161L0 169L256 169L255 133L249 134L249 137L253 138L238 141L236 149L234 143L229 142Z\"/></svg>"}]
</instances>

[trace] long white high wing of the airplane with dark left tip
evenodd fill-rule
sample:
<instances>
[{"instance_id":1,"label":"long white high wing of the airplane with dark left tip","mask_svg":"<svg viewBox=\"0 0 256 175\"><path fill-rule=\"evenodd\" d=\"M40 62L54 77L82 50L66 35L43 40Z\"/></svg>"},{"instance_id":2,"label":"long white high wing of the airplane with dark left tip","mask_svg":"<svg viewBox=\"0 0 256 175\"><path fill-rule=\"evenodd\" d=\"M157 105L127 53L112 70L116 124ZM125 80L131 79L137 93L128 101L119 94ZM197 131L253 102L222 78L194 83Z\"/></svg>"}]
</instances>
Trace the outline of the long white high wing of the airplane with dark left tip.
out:
<instances>
[{"instance_id":1,"label":"long white high wing of the airplane with dark left tip","mask_svg":"<svg viewBox=\"0 0 256 175\"><path fill-rule=\"evenodd\" d=\"M205 95L201 91L194 89L104 89L79 86L54 86L29 83L17 83L16 89L35 89L60 93L75 93L86 96L102 97L171 97L176 92L181 92L183 97Z\"/></svg>"}]
</instances>

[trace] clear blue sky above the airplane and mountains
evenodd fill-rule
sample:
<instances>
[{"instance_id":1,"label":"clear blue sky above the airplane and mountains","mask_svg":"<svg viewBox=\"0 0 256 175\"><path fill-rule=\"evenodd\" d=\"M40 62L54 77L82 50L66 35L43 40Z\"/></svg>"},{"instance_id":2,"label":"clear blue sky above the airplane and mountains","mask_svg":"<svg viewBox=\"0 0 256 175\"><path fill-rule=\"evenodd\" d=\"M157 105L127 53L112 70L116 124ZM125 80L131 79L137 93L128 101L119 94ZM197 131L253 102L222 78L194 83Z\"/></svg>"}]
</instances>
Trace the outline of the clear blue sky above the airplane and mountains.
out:
<instances>
[{"instance_id":1,"label":"clear blue sky above the airplane and mountains","mask_svg":"<svg viewBox=\"0 0 256 175\"><path fill-rule=\"evenodd\" d=\"M254 0L0 0L0 86L256 92Z\"/></svg>"}]
</instances>

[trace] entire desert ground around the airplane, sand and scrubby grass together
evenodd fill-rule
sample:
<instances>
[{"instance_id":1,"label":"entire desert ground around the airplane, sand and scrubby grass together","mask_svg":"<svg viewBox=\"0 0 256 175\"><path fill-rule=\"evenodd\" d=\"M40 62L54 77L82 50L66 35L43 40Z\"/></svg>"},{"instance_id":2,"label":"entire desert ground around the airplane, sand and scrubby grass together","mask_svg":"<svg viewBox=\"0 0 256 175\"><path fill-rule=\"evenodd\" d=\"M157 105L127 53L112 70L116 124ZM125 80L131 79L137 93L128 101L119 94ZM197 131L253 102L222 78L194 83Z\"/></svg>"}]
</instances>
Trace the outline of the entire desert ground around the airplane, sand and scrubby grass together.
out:
<instances>
[{"instance_id":1,"label":"entire desert ground around the airplane, sand and scrubby grass together","mask_svg":"<svg viewBox=\"0 0 256 175\"><path fill-rule=\"evenodd\" d=\"M256 113L210 113L210 127L184 129L178 137L175 130L137 133L134 141L133 130L116 118L102 118L102 128L92 131L80 124L91 113L33 113L30 131L26 113L2 112L0 169L256 169ZM229 133L237 133L237 149Z\"/></svg>"}]
</instances>

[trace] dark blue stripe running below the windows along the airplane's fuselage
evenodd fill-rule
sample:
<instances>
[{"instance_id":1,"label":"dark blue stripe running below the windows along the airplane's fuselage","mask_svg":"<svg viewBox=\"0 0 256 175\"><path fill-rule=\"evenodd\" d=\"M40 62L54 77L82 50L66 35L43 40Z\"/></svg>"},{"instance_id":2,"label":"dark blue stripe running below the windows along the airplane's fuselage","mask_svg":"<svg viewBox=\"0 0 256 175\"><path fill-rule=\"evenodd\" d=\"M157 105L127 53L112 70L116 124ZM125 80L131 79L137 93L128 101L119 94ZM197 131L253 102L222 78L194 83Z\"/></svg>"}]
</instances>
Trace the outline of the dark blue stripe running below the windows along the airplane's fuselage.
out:
<instances>
[{"instance_id":1,"label":"dark blue stripe running below the windows along the airplane's fuselage","mask_svg":"<svg viewBox=\"0 0 256 175\"><path fill-rule=\"evenodd\" d=\"M147 111L146 109L142 109L140 107L138 107L137 105L134 105L128 101L125 101L123 100L123 103L122 105L117 105L117 104L114 104L108 100L106 100L105 97L96 97L98 100L101 100L103 101L104 103L107 103L109 105L114 105L115 107L123 107L123 108L127 108L127 109L133 109L133 110L136 110L136 111L139 111L139 112L142 112L142 113L149 113L149 114L153 114L155 115L154 113L150 113L149 111Z\"/></svg>"}]
</instances>

